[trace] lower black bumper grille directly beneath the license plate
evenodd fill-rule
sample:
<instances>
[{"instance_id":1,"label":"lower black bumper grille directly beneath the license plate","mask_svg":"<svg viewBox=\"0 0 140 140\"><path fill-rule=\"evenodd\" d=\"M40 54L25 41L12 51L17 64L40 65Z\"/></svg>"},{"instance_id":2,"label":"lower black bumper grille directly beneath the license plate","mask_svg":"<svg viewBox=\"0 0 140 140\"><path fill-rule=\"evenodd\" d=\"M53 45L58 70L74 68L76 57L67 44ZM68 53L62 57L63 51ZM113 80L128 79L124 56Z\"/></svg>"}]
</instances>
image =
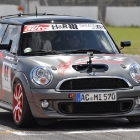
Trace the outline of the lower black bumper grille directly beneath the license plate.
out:
<instances>
[{"instance_id":1,"label":"lower black bumper grille directly beneath the license plate","mask_svg":"<svg viewBox=\"0 0 140 140\"><path fill-rule=\"evenodd\" d=\"M59 110L64 114L117 114L131 110L133 101L111 101L111 102L84 102L84 103L59 103Z\"/></svg>"}]
</instances>

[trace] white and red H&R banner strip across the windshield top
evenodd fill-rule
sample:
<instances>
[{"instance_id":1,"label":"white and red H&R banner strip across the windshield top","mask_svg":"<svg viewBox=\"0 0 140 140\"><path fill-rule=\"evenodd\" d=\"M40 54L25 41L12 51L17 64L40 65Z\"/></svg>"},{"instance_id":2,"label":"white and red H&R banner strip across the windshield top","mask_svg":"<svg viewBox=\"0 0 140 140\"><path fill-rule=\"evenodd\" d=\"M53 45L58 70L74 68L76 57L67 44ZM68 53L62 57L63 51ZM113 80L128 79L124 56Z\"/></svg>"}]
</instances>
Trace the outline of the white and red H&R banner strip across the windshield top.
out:
<instances>
[{"instance_id":1,"label":"white and red H&R banner strip across the windshield top","mask_svg":"<svg viewBox=\"0 0 140 140\"><path fill-rule=\"evenodd\" d=\"M65 30L105 30L102 24L82 23L82 24L39 24L25 25L23 33L45 32L45 31L65 31Z\"/></svg>"}]
</instances>

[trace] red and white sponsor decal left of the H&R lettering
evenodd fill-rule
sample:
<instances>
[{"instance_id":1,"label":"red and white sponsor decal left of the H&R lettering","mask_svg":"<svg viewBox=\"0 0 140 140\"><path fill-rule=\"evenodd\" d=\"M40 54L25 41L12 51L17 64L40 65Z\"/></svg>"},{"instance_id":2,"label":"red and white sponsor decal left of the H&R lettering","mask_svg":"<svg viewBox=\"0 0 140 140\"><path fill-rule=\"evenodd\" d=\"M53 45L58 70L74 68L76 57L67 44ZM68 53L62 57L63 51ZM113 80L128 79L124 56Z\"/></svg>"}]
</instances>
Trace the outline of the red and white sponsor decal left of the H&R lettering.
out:
<instances>
[{"instance_id":1,"label":"red and white sponsor decal left of the H&R lettering","mask_svg":"<svg viewBox=\"0 0 140 140\"><path fill-rule=\"evenodd\" d=\"M47 31L49 26L49 24L25 25L23 33Z\"/></svg>"}]
</instances>

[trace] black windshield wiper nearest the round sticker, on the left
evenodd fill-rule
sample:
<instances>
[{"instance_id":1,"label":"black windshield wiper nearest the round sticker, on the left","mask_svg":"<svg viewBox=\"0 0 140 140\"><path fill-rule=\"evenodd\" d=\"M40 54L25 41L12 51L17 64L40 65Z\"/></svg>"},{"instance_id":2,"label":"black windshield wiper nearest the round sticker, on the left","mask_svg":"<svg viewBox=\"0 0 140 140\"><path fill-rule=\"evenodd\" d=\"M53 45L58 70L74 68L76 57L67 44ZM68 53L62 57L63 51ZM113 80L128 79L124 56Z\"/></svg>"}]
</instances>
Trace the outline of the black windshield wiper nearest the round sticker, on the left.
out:
<instances>
[{"instance_id":1,"label":"black windshield wiper nearest the round sticker, on the left","mask_svg":"<svg viewBox=\"0 0 140 140\"><path fill-rule=\"evenodd\" d=\"M41 51L33 51L33 52L27 52L27 53L23 53L22 55L40 55L40 54L51 54L51 55L55 55L55 54L62 54L63 52L57 52L57 51L45 51L45 50L41 50Z\"/></svg>"}]
</instances>

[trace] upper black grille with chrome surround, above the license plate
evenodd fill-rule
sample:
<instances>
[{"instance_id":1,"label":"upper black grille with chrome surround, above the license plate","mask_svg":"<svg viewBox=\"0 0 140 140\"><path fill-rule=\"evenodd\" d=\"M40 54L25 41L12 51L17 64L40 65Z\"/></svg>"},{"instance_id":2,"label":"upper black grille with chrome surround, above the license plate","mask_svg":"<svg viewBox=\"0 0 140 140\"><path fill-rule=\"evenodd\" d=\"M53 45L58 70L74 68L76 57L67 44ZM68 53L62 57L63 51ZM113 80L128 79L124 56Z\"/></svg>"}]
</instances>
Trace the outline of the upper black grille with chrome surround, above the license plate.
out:
<instances>
[{"instance_id":1,"label":"upper black grille with chrome surround, above the license plate","mask_svg":"<svg viewBox=\"0 0 140 140\"><path fill-rule=\"evenodd\" d=\"M119 78L81 78L64 81L60 90L118 89L129 88L126 81Z\"/></svg>"}]
</instances>

